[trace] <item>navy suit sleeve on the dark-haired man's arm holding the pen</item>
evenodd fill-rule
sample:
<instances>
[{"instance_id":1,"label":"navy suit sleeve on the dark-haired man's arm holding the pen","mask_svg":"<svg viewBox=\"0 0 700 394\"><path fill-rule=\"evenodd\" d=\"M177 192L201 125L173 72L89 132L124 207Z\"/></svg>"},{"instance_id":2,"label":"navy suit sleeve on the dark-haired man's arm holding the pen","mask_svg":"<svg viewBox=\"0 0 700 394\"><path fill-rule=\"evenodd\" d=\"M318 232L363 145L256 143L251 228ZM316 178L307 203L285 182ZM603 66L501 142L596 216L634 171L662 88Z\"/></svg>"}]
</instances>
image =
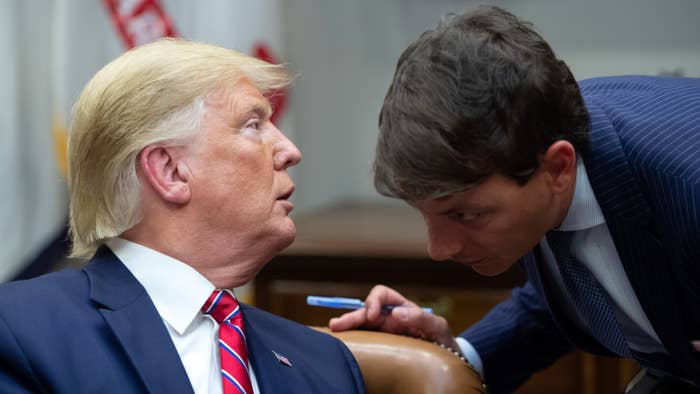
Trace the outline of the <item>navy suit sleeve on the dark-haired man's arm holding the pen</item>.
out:
<instances>
[{"instance_id":1,"label":"navy suit sleeve on the dark-haired man's arm holding the pen","mask_svg":"<svg viewBox=\"0 0 700 394\"><path fill-rule=\"evenodd\" d=\"M494 394L512 392L573 349L530 281L460 336L479 353Z\"/></svg>"}]
</instances>

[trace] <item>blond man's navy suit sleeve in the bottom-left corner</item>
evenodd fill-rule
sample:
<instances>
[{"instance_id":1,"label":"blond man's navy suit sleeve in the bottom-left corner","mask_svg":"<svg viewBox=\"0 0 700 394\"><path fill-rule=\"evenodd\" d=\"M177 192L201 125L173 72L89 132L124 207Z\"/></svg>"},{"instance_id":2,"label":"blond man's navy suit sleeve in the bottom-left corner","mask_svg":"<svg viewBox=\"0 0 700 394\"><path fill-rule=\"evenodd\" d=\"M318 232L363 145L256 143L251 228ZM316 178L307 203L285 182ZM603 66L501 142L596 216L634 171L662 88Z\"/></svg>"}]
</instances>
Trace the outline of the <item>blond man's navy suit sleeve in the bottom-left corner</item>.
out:
<instances>
[{"instance_id":1,"label":"blond man's navy suit sleeve in the bottom-left corner","mask_svg":"<svg viewBox=\"0 0 700 394\"><path fill-rule=\"evenodd\" d=\"M17 339L0 316L0 393L40 393L36 376Z\"/></svg>"}]
</instances>

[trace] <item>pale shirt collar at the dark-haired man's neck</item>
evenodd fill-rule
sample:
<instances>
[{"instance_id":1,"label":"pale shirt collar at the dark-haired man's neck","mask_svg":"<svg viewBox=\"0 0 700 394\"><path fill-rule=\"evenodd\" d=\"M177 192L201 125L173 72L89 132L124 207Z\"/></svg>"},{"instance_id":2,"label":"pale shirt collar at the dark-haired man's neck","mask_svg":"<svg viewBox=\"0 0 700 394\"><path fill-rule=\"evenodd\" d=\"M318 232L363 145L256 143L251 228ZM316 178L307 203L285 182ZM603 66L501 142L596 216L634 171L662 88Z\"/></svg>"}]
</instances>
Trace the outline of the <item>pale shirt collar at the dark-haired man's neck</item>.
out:
<instances>
[{"instance_id":1,"label":"pale shirt collar at the dark-haired man's neck","mask_svg":"<svg viewBox=\"0 0 700 394\"><path fill-rule=\"evenodd\" d=\"M557 230L579 231L603 223L605 223L603 211L600 209L598 200L596 200L593 193L593 187L591 187L591 183L588 180L583 159L579 157L576 161L576 189L574 190L574 197L571 199L571 205L564 217L564 221L562 221Z\"/></svg>"}]
</instances>

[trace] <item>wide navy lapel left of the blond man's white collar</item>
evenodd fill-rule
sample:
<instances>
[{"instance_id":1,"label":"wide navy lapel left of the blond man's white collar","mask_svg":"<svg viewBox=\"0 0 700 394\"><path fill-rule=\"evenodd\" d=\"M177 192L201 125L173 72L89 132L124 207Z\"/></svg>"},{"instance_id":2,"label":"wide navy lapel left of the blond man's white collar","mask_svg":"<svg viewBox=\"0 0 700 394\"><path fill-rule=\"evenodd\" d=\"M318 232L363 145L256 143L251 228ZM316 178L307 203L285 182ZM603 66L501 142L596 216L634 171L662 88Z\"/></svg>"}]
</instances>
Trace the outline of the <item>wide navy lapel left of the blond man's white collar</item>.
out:
<instances>
[{"instance_id":1,"label":"wide navy lapel left of the blond man's white collar","mask_svg":"<svg viewBox=\"0 0 700 394\"><path fill-rule=\"evenodd\" d=\"M193 393L163 320L124 264L103 246L84 271L90 280L90 298L148 391Z\"/></svg>"}]
</instances>

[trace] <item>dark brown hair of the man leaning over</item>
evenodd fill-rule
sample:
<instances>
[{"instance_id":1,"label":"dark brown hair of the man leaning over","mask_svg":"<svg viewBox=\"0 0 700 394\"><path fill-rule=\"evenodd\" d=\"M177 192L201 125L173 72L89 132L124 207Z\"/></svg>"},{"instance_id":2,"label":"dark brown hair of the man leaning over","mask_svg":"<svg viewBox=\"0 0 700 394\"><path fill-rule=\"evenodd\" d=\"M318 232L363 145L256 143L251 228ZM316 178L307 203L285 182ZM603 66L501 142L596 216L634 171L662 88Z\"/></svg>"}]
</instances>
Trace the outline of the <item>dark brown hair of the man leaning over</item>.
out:
<instances>
[{"instance_id":1,"label":"dark brown hair of the man leaning over","mask_svg":"<svg viewBox=\"0 0 700 394\"><path fill-rule=\"evenodd\" d=\"M399 58L375 187L419 201L496 173L525 184L553 142L584 150L588 124L571 71L530 23L497 7L453 15Z\"/></svg>"}]
</instances>

